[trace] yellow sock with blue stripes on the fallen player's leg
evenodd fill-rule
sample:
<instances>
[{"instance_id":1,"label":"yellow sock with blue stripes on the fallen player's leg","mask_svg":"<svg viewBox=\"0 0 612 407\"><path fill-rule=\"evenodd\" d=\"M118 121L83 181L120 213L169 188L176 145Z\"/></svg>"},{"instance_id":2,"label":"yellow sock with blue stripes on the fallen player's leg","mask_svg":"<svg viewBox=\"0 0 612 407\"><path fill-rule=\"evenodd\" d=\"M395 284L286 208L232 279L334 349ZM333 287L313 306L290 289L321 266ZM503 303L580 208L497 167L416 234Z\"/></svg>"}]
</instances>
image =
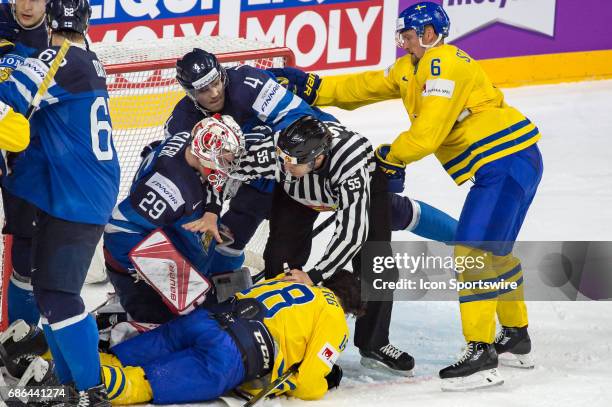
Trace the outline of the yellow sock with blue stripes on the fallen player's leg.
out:
<instances>
[{"instance_id":1,"label":"yellow sock with blue stripes on the fallen player's leg","mask_svg":"<svg viewBox=\"0 0 612 407\"><path fill-rule=\"evenodd\" d=\"M102 365L102 380L112 404L139 404L153 399L151 384L141 367Z\"/></svg>"}]
</instances>

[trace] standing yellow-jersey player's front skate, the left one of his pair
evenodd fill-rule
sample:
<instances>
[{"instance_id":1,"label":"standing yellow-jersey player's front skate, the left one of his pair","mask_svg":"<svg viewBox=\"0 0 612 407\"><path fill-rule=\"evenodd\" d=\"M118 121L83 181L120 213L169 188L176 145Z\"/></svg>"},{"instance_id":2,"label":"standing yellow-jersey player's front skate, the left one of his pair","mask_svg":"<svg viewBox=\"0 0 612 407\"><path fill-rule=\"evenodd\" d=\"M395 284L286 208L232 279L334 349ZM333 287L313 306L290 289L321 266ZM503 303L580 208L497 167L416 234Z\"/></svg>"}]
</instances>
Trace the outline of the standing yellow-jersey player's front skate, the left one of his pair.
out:
<instances>
[{"instance_id":1,"label":"standing yellow-jersey player's front skate, the left one of his pair","mask_svg":"<svg viewBox=\"0 0 612 407\"><path fill-rule=\"evenodd\" d=\"M442 370L442 391L466 391L500 385L497 353L492 344L468 342L459 360Z\"/></svg>"}]
</instances>

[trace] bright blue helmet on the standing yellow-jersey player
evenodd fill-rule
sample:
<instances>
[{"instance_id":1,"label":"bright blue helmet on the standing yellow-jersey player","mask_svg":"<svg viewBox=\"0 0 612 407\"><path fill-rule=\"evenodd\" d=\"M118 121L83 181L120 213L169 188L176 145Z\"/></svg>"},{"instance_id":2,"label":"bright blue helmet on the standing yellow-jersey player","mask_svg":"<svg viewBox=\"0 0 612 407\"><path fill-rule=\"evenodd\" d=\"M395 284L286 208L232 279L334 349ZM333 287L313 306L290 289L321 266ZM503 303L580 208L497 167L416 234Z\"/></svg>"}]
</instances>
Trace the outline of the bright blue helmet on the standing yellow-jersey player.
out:
<instances>
[{"instance_id":1,"label":"bright blue helmet on the standing yellow-jersey player","mask_svg":"<svg viewBox=\"0 0 612 407\"><path fill-rule=\"evenodd\" d=\"M396 33L400 34L406 30L415 30L418 37L422 37L425 27L433 26L436 34L448 37L450 30L450 19L448 14L439 4L431 1L422 1L413 4L402 11L397 18Z\"/></svg>"}]
</instances>

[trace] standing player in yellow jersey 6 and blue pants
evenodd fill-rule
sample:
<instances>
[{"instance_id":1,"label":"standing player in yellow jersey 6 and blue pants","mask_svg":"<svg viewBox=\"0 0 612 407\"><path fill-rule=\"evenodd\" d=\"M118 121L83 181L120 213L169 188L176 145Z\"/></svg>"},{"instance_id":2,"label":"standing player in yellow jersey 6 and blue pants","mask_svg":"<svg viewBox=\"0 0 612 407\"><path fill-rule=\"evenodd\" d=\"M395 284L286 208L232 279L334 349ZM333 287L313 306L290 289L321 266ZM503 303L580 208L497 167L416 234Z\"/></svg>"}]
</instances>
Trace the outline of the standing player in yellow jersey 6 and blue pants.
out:
<instances>
[{"instance_id":1,"label":"standing player in yellow jersey 6 and blue pants","mask_svg":"<svg viewBox=\"0 0 612 407\"><path fill-rule=\"evenodd\" d=\"M393 144L377 149L387 173L402 179L406 164L435 153L458 185L473 178L455 237L465 244L455 255L487 254L489 260L484 271L467 270L460 278L504 278L518 288L460 292L466 351L440 371L443 388L454 390L500 384L500 353L514 356L513 365L533 366L521 265L512 247L542 177L542 158L538 128L505 103L471 56L444 43L449 29L441 6L421 2L400 14L396 38L408 54L387 70L325 78L295 69L275 74L319 106L354 109L401 97L412 123Z\"/></svg>"}]
</instances>

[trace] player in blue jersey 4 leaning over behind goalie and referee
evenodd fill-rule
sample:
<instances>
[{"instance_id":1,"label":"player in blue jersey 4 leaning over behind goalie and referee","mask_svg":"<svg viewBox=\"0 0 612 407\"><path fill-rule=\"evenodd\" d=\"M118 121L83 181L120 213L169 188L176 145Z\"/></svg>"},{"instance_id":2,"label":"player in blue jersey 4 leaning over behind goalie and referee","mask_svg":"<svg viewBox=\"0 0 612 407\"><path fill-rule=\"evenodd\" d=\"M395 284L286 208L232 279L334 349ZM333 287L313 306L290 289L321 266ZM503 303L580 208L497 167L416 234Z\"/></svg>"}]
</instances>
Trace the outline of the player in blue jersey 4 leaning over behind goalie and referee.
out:
<instances>
[{"instance_id":1,"label":"player in blue jersey 4 leaning over behind goalie and referee","mask_svg":"<svg viewBox=\"0 0 612 407\"><path fill-rule=\"evenodd\" d=\"M300 98L287 92L268 72L250 66L226 70L213 54L203 50L194 49L177 62L177 80L187 92L187 97L176 105L168 120L167 136L191 132L203 117L212 113L231 115L245 134L258 133L261 130L257 128L261 126L267 126L272 131L282 130L297 118L308 115L325 121L337 121L332 115L310 108ZM260 148L256 143L249 150L252 153L246 155L240 174L234 174L234 177L248 179L249 182L240 186L221 221L233 232L235 241L220 248L223 255L215 253L214 261L221 263L215 269L239 267L246 243L259 223L269 216L273 182L258 178L270 178L269 169L270 166L274 168L275 160L267 154L267 148ZM453 240L456 221L445 213L408 198L394 199L393 205L394 213L399 214L393 219L395 230L408 229L439 241ZM216 234L216 225L216 215L207 213L204 218L186 227Z\"/></svg>"}]
</instances>

